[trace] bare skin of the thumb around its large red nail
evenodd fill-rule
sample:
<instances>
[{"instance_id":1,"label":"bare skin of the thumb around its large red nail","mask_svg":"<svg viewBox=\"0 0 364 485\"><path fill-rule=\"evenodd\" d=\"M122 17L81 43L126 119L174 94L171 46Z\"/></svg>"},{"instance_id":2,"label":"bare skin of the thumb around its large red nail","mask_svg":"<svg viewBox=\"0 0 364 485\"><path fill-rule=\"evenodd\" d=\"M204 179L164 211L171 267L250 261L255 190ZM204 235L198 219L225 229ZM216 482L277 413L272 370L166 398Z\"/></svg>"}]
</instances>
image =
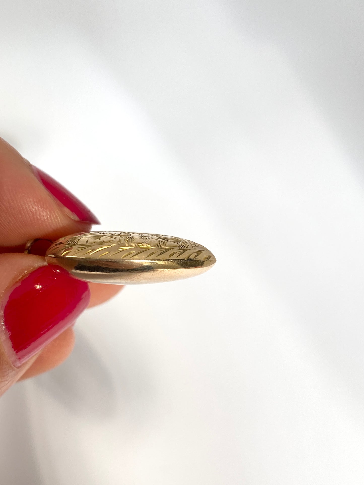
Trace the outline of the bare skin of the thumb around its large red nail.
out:
<instances>
[{"instance_id":1,"label":"bare skin of the thumb around its large red nail","mask_svg":"<svg viewBox=\"0 0 364 485\"><path fill-rule=\"evenodd\" d=\"M0 254L0 301L3 299L5 292L23 275L45 264L44 259L39 256ZM16 368L10 362L2 343L0 343L0 395L32 366L37 356L33 356L20 368Z\"/></svg>"}]
</instances>

